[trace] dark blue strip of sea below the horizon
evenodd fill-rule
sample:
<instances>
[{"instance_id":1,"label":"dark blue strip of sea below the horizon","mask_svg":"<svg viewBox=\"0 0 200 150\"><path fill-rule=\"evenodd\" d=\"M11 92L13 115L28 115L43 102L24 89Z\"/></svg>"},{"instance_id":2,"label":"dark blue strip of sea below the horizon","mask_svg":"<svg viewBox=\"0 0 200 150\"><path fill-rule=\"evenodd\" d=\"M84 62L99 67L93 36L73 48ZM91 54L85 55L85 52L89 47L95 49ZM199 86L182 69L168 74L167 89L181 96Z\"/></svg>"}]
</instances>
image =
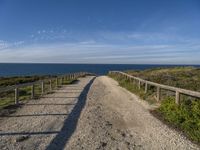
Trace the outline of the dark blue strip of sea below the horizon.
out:
<instances>
[{"instance_id":1,"label":"dark blue strip of sea below the horizon","mask_svg":"<svg viewBox=\"0 0 200 150\"><path fill-rule=\"evenodd\" d=\"M155 67L173 67L178 65L127 65L127 64L8 64L0 63L0 76L53 75L87 71L97 75L107 74L111 70L143 70ZM184 65L187 66L187 65ZM190 65L191 66L191 65ZM200 67L200 65L195 65Z\"/></svg>"}]
</instances>

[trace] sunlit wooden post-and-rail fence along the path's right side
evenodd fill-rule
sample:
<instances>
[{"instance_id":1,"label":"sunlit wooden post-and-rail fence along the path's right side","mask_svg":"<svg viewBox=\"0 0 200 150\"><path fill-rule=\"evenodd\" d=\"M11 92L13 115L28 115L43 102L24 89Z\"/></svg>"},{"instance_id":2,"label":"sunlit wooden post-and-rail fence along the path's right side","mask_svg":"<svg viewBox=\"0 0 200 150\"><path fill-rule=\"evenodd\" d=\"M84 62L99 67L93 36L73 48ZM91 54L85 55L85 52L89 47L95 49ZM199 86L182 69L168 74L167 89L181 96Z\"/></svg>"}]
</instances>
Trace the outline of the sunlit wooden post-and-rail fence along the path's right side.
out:
<instances>
[{"instance_id":1,"label":"sunlit wooden post-and-rail fence along the path's right side","mask_svg":"<svg viewBox=\"0 0 200 150\"><path fill-rule=\"evenodd\" d=\"M145 93L147 93L149 86L155 86L157 88L157 94L156 94L157 95L156 96L157 101L160 100L161 89L175 92L175 97L176 97L175 99L176 99L177 104L180 104L180 94L188 95L188 96L195 97L195 98L200 98L200 92L195 92L195 91L181 89L181 88L177 88L177 87L173 87L173 86L158 84L158 83L155 83L155 82L147 81L147 80L129 75L129 74L121 72L121 71L110 71L109 73L110 74L118 74L120 76L124 76L127 79L135 80L136 82L138 82L138 88L139 89L141 88L142 83L145 84Z\"/></svg>"}]
</instances>

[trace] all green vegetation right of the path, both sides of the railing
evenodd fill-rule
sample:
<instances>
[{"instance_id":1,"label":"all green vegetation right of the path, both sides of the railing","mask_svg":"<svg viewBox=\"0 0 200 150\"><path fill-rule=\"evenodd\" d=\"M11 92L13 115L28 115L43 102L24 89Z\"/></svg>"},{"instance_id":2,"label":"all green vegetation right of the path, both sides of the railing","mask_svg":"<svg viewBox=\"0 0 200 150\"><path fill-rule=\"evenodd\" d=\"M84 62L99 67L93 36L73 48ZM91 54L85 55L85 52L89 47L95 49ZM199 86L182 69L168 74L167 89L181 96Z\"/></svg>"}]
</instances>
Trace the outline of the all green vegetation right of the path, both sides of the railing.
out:
<instances>
[{"instance_id":1,"label":"all green vegetation right of the path, both sides of the railing","mask_svg":"<svg viewBox=\"0 0 200 150\"><path fill-rule=\"evenodd\" d=\"M198 84L200 83L200 69L193 67L156 68L144 71L127 71L127 73L161 84L200 91ZM153 87L145 94L143 89L139 90L137 85L132 82L116 75L110 76L142 99L155 102L153 97L155 89ZM190 139L200 142L200 99L182 96L181 105L178 106L175 104L174 96L165 93L161 105L156 111L165 121L181 129Z\"/></svg>"}]
</instances>

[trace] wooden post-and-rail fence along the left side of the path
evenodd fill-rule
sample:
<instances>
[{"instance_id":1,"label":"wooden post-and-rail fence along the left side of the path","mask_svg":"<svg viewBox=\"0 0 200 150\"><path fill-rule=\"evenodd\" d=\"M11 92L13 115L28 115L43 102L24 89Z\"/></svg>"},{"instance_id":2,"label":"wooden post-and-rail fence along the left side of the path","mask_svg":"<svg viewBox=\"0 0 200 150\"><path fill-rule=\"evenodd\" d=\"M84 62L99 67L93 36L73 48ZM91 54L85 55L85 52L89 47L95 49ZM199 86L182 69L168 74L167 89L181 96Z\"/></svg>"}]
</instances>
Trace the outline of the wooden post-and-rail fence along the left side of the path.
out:
<instances>
[{"instance_id":1,"label":"wooden post-and-rail fence along the left side of the path","mask_svg":"<svg viewBox=\"0 0 200 150\"><path fill-rule=\"evenodd\" d=\"M31 82L31 83L24 83L24 84L19 84L19 85L13 85L13 86L7 86L7 87L3 87L0 88L0 93L3 92L9 92L9 91L14 91L14 101L15 104L19 103L19 89L20 88L24 88L24 87L28 87L31 86L31 99L33 99L35 97L35 85L40 84L41 85L41 95L43 95L46 91L45 91L45 83L48 82L48 86L49 86L49 90L48 92L52 91L52 81L54 80L56 82L56 87L63 84L64 80L73 80L79 77L83 77L86 75L93 75L91 73L87 73L87 72L79 72L79 73L70 73L70 74L66 74L66 75L60 75L54 78L47 78L44 80L39 80L36 82ZM59 82L60 80L60 82Z\"/></svg>"}]
</instances>

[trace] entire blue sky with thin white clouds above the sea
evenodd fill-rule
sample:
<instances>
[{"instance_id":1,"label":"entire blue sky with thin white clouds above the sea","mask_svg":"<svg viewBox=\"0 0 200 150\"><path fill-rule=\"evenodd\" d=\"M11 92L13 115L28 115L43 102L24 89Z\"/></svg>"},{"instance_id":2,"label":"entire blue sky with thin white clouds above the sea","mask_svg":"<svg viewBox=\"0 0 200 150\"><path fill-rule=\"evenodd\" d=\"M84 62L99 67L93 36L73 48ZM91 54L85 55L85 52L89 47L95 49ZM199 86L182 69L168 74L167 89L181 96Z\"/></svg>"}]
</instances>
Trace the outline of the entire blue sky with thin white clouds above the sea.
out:
<instances>
[{"instance_id":1,"label":"entire blue sky with thin white clouds above the sea","mask_svg":"<svg viewBox=\"0 0 200 150\"><path fill-rule=\"evenodd\" d=\"M200 1L0 0L0 62L200 64Z\"/></svg>"}]
</instances>

